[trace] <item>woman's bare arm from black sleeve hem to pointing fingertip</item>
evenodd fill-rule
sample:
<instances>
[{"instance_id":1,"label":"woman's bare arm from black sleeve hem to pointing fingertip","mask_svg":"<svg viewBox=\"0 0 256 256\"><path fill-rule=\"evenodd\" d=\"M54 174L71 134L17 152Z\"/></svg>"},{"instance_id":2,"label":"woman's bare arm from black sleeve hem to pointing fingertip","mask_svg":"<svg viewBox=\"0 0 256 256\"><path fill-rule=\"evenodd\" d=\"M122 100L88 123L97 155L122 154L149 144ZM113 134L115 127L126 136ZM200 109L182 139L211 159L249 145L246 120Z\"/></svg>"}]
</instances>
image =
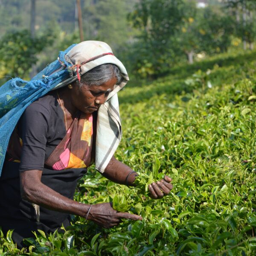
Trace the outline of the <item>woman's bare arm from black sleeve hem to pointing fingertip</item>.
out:
<instances>
[{"instance_id":1,"label":"woman's bare arm from black sleeve hem to pointing fingertip","mask_svg":"<svg viewBox=\"0 0 256 256\"><path fill-rule=\"evenodd\" d=\"M79 215L105 228L118 225L122 218L142 220L141 216L129 212L117 212L111 203L81 204L55 192L41 183L42 171L29 170L20 174L22 198L58 212Z\"/></svg>"}]
</instances>

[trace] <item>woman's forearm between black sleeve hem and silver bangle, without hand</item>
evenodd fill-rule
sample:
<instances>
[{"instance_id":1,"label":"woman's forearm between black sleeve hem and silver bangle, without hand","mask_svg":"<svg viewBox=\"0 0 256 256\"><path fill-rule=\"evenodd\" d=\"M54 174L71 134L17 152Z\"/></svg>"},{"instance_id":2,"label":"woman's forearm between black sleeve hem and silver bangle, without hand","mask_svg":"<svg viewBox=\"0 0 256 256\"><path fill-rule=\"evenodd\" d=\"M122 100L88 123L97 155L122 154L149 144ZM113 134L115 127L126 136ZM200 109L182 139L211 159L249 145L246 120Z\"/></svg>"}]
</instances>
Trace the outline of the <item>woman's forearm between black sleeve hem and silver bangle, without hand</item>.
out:
<instances>
[{"instance_id":1,"label":"woman's forearm between black sleeve hem and silver bangle, without hand","mask_svg":"<svg viewBox=\"0 0 256 256\"><path fill-rule=\"evenodd\" d=\"M67 198L41 183L39 170L20 173L20 189L23 199L47 209L85 217L90 205L82 204Z\"/></svg>"}]
</instances>

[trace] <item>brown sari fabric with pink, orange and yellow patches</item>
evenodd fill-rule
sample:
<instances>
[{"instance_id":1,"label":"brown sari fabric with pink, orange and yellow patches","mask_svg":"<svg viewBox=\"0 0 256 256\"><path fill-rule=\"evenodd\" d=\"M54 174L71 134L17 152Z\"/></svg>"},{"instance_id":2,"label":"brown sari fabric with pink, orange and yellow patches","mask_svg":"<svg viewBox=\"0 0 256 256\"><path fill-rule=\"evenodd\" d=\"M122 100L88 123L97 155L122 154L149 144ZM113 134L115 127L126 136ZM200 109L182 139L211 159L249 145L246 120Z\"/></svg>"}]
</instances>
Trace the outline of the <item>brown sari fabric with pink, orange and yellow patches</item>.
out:
<instances>
[{"instance_id":1,"label":"brown sari fabric with pink, orange and yellow patches","mask_svg":"<svg viewBox=\"0 0 256 256\"><path fill-rule=\"evenodd\" d=\"M93 163L93 114L79 112L74 118L66 136L48 157L45 166L53 170L86 168ZM13 132L8 146L9 161L20 162L22 141Z\"/></svg>"}]
</instances>

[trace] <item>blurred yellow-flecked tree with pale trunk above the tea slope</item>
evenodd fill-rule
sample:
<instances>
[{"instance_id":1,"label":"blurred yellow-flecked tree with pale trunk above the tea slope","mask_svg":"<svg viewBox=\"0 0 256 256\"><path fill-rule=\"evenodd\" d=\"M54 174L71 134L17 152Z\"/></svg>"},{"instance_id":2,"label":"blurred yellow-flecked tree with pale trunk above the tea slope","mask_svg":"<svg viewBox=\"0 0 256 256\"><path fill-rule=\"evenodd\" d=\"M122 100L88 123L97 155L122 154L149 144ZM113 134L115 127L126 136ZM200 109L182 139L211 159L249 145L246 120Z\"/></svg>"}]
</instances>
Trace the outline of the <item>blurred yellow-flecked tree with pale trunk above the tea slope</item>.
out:
<instances>
[{"instance_id":1,"label":"blurred yellow-flecked tree with pale trunk above the tea slope","mask_svg":"<svg viewBox=\"0 0 256 256\"><path fill-rule=\"evenodd\" d=\"M221 6L198 8L193 1L183 7L183 19L176 32L176 44L186 54L190 64L194 55L227 51L231 44L233 18Z\"/></svg>"}]
</instances>

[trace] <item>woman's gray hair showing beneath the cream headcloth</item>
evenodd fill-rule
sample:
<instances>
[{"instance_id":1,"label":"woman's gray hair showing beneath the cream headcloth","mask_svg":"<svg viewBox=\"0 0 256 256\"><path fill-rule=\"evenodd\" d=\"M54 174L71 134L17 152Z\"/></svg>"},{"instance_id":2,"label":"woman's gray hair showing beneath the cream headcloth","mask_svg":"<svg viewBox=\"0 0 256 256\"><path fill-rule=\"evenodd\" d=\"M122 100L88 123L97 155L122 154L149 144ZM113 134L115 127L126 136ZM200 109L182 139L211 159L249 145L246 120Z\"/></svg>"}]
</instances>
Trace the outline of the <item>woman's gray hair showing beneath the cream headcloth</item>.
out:
<instances>
[{"instance_id":1,"label":"woman's gray hair showing beneath the cream headcloth","mask_svg":"<svg viewBox=\"0 0 256 256\"><path fill-rule=\"evenodd\" d=\"M119 68L114 64L102 64L86 72L81 76L79 87L83 84L90 85L101 85L107 81L116 78L116 84L122 81L122 75Z\"/></svg>"}]
</instances>

